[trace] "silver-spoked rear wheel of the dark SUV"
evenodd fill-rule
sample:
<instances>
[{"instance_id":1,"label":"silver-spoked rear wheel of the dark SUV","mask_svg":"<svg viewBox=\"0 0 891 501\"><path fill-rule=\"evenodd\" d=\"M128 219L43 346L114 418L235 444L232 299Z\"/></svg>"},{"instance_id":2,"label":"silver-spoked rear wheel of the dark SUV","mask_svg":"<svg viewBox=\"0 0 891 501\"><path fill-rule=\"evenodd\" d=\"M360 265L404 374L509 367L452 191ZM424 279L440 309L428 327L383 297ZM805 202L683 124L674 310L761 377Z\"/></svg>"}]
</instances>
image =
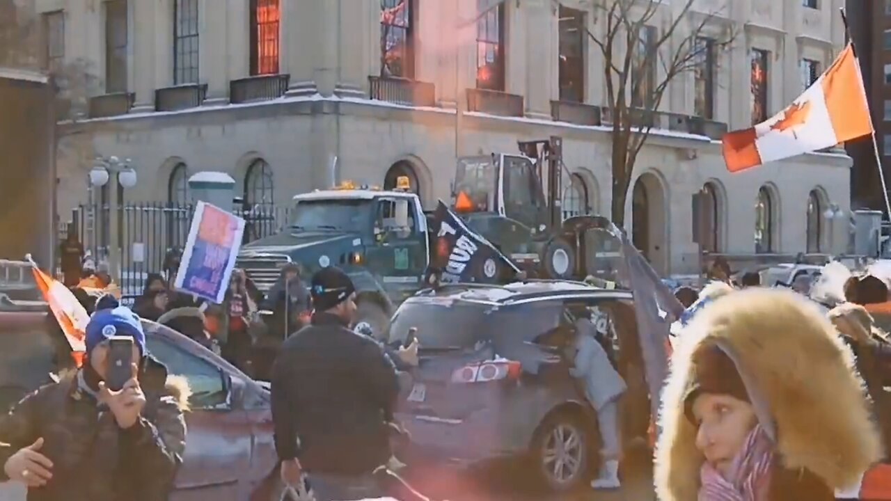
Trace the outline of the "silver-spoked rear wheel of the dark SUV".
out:
<instances>
[{"instance_id":1,"label":"silver-spoked rear wheel of the dark SUV","mask_svg":"<svg viewBox=\"0 0 891 501\"><path fill-rule=\"evenodd\" d=\"M549 417L535 434L532 460L544 487L556 493L575 490L588 480L591 438L582 419L569 413Z\"/></svg>"}]
</instances>

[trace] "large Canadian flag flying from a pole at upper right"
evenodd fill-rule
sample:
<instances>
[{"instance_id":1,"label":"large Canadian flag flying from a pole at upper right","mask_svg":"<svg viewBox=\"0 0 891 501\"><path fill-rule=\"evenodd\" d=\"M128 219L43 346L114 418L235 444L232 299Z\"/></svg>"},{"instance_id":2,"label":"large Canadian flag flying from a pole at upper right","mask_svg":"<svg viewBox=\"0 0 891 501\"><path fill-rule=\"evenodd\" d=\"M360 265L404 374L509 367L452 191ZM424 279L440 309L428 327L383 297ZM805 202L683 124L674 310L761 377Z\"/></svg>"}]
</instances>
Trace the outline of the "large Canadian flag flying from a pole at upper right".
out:
<instances>
[{"instance_id":1,"label":"large Canadian flag flying from a pole at upper right","mask_svg":"<svg viewBox=\"0 0 891 501\"><path fill-rule=\"evenodd\" d=\"M727 169L739 172L816 152L873 132L860 65L848 44L835 62L785 110L755 127L723 136Z\"/></svg>"}]
</instances>

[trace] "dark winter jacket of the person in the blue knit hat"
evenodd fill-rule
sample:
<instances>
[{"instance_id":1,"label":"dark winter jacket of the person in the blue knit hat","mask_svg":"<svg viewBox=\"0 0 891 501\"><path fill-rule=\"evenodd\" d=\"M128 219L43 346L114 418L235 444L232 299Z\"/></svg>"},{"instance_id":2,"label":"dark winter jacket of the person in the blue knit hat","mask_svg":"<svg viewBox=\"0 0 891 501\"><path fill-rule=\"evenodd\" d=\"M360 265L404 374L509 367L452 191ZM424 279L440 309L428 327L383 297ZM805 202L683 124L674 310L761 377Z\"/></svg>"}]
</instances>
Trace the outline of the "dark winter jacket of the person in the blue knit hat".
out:
<instances>
[{"instance_id":1,"label":"dark winter jacket of the person in the blue knit hat","mask_svg":"<svg viewBox=\"0 0 891 501\"><path fill-rule=\"evenodd\" d=\"M182 464L188 384L149 361L140 376L143 417L121 430L77 374L41 387L0 418L0 464L43 438L53 479L29 489L28 501L166 501Z\"/></svg>"}]
</instances>

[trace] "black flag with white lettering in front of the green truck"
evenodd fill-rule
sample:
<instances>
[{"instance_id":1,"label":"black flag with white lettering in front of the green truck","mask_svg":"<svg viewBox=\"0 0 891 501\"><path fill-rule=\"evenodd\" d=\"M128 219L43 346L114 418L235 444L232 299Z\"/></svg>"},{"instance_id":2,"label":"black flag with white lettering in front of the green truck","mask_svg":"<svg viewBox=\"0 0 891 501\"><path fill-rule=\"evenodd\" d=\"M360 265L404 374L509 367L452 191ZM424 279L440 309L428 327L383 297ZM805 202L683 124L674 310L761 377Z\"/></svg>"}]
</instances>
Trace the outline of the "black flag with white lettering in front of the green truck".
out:
<instances>
[{"instance_id":1,"label":"black flag with white lettering in front of the green truck","mask_svg":"<svg viewBox=\"0 0 891 501\"><path fill-rule=\"evenodd\" d=\"M443 201L437 205L429 231L433 248L427 283L500 283L519 273L511 259L467 227Z\"/></svg>"}]
</instances>

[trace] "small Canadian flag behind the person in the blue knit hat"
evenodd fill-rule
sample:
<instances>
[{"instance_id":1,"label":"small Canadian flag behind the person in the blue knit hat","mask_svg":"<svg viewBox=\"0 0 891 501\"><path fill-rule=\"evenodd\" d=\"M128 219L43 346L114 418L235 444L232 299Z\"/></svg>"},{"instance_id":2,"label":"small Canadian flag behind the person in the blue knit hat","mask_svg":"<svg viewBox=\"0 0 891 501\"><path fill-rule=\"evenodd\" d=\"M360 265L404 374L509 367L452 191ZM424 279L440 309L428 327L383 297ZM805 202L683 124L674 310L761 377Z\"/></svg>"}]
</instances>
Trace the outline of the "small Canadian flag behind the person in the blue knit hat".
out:
<instances>
[{"instance_id":1,"label":"small Canadian flag behind the person in the blue knit hat","mask_svg":"<svg viewBox=\"0 0 891 501\"><path fill-rule=\"evenodd\" d=\"M83 365L86 352L86 324L90 322L90 316L78 298L74 297L74 293L63 283L46 275L37 266L31 269L34 271L34 279L44 295L44 300L49 303L61 331L65 333L65 339L71 346L71 357L74 357L78 367Z\"/></svg>"}]
</instances>

